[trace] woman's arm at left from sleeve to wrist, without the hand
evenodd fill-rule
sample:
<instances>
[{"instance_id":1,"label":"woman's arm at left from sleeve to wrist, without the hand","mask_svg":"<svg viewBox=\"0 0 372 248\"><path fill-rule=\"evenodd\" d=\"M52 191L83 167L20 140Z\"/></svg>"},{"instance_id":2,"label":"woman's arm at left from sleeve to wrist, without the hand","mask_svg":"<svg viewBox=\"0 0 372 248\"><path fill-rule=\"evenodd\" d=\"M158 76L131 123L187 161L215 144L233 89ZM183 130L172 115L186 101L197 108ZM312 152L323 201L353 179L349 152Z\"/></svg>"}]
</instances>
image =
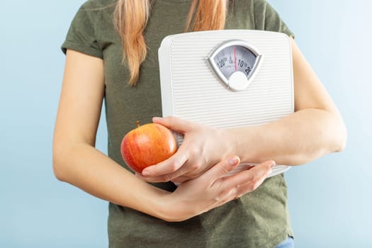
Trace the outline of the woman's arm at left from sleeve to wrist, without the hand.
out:
<instances>
[{"instance_id":1,"label":"woman's arm at left from sleeve to wrist, without the hand","mask_svg":"<svg viewBox=\"0 0 372 248\"><path fill-rule=\"evenodd\" d=\"M98 198L162 218L147 206L156 206L152 201L166 192L136 179L94 148L103 93L103 61L68 50L53 140L55 176Z\"/></svg>"}]
</instances>

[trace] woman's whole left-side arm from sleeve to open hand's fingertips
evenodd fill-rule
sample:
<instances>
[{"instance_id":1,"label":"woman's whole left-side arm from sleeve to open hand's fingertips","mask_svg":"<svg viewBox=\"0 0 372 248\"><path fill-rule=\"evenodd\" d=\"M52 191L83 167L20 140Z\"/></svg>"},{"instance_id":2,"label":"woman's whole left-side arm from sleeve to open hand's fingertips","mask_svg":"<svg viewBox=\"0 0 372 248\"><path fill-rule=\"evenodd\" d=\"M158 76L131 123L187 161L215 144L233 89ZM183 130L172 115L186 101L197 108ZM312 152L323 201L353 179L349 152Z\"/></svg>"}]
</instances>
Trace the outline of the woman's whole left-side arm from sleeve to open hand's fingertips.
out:
<instances>
[{"instance_id":1,"label":"woman's whole left-side arm from sleeve to open hand's fingertips","mask_svg":"<svg viewBox=\"0 0 372 248\"><path fill-rule=\"evenodd\" d=\"M67 51L53 140L55 176L118 205L162 220L186 220L253 191L274 162L221 178L239 163L230 157L170 193L147 184L94 148L104 93L103 61Z\"/></svg>"}]
</instances>

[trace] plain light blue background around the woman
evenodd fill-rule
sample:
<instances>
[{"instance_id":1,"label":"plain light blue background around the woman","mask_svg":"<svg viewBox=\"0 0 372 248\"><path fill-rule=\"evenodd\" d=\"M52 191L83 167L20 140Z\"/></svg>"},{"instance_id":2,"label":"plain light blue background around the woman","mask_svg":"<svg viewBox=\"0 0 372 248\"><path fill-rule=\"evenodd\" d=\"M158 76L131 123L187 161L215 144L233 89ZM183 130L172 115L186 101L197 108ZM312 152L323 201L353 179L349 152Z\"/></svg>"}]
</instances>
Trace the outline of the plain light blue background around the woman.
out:
<instances>
[{"instance_id":1,"label":"plain light blue background around the woman","mask_svg":"<svg viewBox=\"0 0 372 248\"><path fill-rule=\"evenodd\" d=\"M107 203L55 179L60 45L79 1L0 9L0 247L107 247ZM296 247L372 247L371 1L270 0L341 111L349 140L286 172ZM104 118L96 147L106 152Z\"/></svg>"}]
</instances>

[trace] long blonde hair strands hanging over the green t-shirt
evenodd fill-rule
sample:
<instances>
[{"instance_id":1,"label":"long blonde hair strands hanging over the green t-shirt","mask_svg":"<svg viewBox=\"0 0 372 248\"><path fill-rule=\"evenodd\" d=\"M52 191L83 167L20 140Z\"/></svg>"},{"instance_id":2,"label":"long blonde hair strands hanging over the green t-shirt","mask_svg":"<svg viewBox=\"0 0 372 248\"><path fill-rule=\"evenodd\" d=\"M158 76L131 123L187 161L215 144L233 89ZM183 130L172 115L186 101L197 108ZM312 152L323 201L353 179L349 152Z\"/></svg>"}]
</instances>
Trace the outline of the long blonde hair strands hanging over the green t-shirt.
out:
<instances>
[{"instance_id":1,"label":"long blonde hair strands hanging over the green t-shirt","mask_svg":"<svg viewBox=\"0 0 372 248\"><path fill-rule=\"evenodd\" d=\"M227 0L193 0L185 32L225 28ZM114 11L115 28L123 45L123 62L130 69L129 84L134 86L140 65L146 58L147 46L143 30L150 17L154 0L118 0Z\"/></svg>"}]
</instances>

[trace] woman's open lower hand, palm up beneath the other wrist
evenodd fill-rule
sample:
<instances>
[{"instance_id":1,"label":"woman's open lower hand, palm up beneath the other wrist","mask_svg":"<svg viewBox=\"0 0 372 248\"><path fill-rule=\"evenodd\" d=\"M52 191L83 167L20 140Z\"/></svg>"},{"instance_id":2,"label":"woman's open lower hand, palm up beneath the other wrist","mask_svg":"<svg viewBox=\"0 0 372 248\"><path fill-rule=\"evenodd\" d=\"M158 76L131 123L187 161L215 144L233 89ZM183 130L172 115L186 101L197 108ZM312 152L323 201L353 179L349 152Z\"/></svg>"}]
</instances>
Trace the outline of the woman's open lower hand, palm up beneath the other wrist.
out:
<instances>
[{"instance_id":1,"label":"woman's open lower hand, palm up beneath the other wrist","mask_svg":"<svg viewBox=\"0 0 372 248\"><path fill-rule=\"evenodd\" d=\"M184 182L164 196L167 221L182 221L217 208L258 188L271 173L274 161L266 161L247 171L225 176L239 164L238 157L223 159L196 179Z\"/></svg>"}]
</instances>

